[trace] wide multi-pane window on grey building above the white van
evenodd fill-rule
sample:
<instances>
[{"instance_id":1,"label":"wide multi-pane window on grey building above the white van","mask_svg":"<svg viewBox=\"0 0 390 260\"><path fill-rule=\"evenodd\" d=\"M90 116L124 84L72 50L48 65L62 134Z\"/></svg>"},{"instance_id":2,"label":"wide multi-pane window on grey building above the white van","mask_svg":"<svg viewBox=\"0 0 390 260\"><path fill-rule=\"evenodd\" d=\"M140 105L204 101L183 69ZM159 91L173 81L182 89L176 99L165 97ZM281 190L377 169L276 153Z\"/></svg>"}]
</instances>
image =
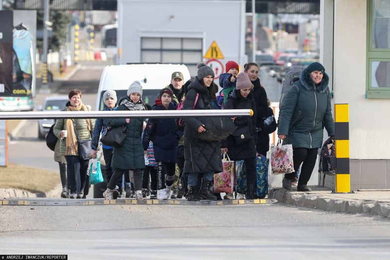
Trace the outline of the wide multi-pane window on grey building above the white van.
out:
<instances>
[{"instance_id":1,"label":"wide multi-pane window on grey building above the white van","mask_svg":"<svg viewBox=\"0 0 390 260\"><path fill-rule=\"evenodd\" d=\"M142 63L185 64L196 75L196 64L202 61L201 38L141 38Z\"/></svg>"}]
</instances>

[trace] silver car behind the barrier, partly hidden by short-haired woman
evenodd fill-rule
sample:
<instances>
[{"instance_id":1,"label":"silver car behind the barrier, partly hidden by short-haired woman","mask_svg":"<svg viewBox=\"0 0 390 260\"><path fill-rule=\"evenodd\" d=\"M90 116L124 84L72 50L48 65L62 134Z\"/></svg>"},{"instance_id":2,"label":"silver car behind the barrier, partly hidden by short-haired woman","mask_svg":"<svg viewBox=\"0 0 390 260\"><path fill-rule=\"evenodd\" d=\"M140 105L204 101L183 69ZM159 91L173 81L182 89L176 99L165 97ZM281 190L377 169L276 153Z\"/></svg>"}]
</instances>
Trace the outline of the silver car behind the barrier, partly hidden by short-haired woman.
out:
<instances>
[{"instance_id":1,"label":"silver car behind the barrier, partly hidden by short-haired woman","mask_svg":"<svg viewBox=\"0 0 390 260\"><path fill-rule=\"evenodd\" d=\"M69 101L68 96L48 96L43 101L43 106L38 106L37 111L59 111L65 109L66 103ZM38 138L44 139L49 132L50 127L55 123L54 119L39 119L38 120Z\"/></svg>"}]
</instances>

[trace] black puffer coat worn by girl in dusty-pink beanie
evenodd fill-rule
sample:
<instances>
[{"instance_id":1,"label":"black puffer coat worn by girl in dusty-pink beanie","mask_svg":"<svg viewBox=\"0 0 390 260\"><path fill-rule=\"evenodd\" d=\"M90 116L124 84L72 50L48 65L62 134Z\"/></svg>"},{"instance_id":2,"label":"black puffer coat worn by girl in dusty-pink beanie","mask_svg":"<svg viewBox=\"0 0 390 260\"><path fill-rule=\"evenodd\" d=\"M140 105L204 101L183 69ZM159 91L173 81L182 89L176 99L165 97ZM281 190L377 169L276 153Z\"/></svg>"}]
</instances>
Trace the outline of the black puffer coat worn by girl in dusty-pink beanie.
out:
<instances>
[{"instance_id":1,"label":"black puffer coat worn by girl in dusty-pink beanie","mask_svg":"<svg viewBox=\"0 0 390 260\"><path fill-rule=\"evenodd\" d=\"M234 141L234 137L230 135L221 144L221 147L228 148L228 154L230 160L240 161L248 158L256 157L256 103L253 99L252 93L249 93L247 97L243 97L240 90L234 88L229 92L227 100L223 105L223 109L252 109L253 116L239 116L234 120L234 124L238 129L248 127L252 135L252 139L248 142L237 145Z\"/></svg>"}]
</instances>

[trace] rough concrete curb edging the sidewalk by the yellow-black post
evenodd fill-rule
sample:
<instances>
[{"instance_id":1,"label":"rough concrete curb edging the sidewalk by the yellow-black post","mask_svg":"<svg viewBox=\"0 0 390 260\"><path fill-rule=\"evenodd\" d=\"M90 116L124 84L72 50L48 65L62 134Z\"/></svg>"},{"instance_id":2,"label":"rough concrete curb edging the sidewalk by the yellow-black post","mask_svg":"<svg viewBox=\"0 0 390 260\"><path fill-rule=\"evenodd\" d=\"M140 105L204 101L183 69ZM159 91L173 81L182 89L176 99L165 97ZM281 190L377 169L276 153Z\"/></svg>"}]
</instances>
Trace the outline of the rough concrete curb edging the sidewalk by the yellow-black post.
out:
<instances>
[{"instance_id":1,"label":"rough concrete curb edging the sidewalk by the yellow-black post","mask_svg":"<svg viewBox=\"0 0 390 260\"><path fill-rule=\"evenodd\" d=\"M284 188L270 188L268 198L297 207L390 217L390 204L383 202L331 198L310 192L288 191Z\"/></svg>"}]
</instances>

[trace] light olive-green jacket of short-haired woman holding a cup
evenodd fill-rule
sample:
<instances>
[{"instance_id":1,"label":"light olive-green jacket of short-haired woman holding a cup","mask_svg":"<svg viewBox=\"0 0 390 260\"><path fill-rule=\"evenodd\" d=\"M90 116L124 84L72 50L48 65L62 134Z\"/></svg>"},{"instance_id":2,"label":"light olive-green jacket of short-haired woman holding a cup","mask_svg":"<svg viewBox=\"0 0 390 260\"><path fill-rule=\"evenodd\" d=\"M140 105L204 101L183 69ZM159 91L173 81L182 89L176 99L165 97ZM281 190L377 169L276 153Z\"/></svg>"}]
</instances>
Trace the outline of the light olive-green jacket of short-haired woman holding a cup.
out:
<instances>
[{"instance_id":1,"label":"light olive-green jacket of short-haired woman holding a cup","mask_svg":"<svg viewBox=\"0 0 390 260\"><path fill-rule=\"evenodd\" d=\"M66 104L69 106L70 102ZM88 109L90 111L90 109ZM53 133L60 139L60 154L65 155L66 152L66 144L65 139L61 139L61 131L66 130L66 120L67 119L57 119L56 124L53 127ZM74 119L76 124L77 132L79 133L80 140L90 139L94 132L95 127L95 119L90 119L91 121L91 129L88 130L87 120L86 119ZM78 153L73 153L71 155L79 156Z\"/></svg>"}]
</instances>

